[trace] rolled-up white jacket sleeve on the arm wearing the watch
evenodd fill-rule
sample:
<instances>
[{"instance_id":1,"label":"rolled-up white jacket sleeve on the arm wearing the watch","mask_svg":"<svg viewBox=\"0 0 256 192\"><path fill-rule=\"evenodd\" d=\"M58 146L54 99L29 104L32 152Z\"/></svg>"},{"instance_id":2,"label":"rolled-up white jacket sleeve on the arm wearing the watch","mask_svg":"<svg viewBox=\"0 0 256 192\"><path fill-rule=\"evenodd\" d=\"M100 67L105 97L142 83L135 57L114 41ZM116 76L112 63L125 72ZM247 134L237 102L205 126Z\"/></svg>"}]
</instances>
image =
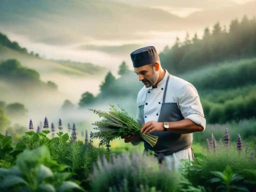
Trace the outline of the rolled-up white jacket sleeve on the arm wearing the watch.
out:
<instances>
[{"instance_id":1,"label":"rolled-up white jacket sleeve on the arm wearing the watch","mask_svg":"<svg viewBox=\"0 0 256 192\"><path fill-rule=\"evenodd\" d=\"M178 106L180 107L183 117L201 125L205 130L206 120L196 88L190 83L185 84L178 91L177 97Z\"/></svg>"}]
</instances>

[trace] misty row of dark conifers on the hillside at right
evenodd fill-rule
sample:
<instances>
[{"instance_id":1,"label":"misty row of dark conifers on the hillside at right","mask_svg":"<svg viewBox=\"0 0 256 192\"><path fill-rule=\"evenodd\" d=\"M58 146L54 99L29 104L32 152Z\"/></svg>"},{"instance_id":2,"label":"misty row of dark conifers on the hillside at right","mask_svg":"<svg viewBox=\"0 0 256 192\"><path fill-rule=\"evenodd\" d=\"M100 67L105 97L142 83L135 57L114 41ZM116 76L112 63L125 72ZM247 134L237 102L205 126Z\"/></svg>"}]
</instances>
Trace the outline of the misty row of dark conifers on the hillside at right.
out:
<instances>
[{"instance_id":1,"label":"misty row of dark conifers on the hillside at right","mask_svg":"<svg viewBox=\"0 0 256 192\"><path fill-rule=\"evenodd\" d=\"M162 66L172 74L209 66L222 61L232 61L256 56L256 18L244 16L234 19L229 29L217 22L210 31L204 30L200 39L187 33L184 42L178 37L172 47L159 54Z\"/></svg>"}]
</instances>

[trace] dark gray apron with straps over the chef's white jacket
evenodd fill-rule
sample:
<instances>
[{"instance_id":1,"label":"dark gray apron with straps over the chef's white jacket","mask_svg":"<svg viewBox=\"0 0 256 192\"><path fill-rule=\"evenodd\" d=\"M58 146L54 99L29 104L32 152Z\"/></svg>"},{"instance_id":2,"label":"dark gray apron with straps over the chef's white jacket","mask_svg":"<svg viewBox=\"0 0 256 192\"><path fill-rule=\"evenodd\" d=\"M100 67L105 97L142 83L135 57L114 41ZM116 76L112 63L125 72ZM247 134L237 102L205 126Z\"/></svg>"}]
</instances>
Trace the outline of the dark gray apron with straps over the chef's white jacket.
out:
<instances>
[{"instance_id":1,"label":"dark gray apron with straps over the chef's white jacket","mask_svg":"<svg viewBox=\"0 0 256 192\"><path fill-rule=\"evenodd\" d=\"M165 84L164 96L162 101L162 106L159 114L158 122L173 122L183 120L184 117L181 111L178 108L177 102L174 103L165 103L167 85L170 78L168 77ZM147 91L147 94L150 93L150 90ZM146 95L147 98L147 95ZM158 101L156 101L158 102ZM144 105L139 106L142 116L144 116ZM162 132L153 132L151 135L158 136L158 141L154 147L142 139L144 142L144 152L154 151L154 155L157 156L159 163L162 163L164 156L172 155L175 152L186 150L191 147L192 144L192 133L189 134L177 134L171 133L168 131ZM193 161L195 161L194 151L192 150Z\"/></svg>"}]
</instances>

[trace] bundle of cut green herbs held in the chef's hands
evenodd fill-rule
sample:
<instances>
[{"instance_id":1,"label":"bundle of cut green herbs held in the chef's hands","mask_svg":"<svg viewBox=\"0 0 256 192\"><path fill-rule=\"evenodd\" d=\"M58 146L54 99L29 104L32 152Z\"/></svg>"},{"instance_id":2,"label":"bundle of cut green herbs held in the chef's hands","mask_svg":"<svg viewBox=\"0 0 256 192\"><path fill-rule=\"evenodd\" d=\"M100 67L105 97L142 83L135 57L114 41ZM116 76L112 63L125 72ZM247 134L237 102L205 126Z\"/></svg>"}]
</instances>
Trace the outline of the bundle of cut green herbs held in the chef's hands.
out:
<instances>
[{"instance_id":1,"label":"bundle of cut green herbs held in the chef's hands","mask_svg":"<svg viewBox=\"0 0 256 192\"><path fill-rule=\"evenodd\" d=\"M142 126L130 117L120 105L118 106L121 109L120 111L114 108L114 105L110 105L111 108L109 112L89 109L102 118L100 121L96 121L92 124L96 126L93 129L98 131L94 133L91 132L90 137L92 139L99 139L101 146L108 144L110 141L120 136L138 134L154 147L158 137L150 134L142 134Z\"/></svg>"}]
</instances>

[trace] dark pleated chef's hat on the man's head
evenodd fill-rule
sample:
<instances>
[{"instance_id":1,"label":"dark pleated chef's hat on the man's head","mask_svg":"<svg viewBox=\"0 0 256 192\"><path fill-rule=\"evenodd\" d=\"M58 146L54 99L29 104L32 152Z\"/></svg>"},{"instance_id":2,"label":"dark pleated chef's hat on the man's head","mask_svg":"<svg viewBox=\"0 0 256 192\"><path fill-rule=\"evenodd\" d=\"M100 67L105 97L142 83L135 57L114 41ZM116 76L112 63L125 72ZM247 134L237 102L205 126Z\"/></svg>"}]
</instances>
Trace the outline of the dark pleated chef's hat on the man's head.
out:
<instances>
[{"instance_id":1,"label":"dark pleated chef's hat on the man's head","mask_svg":"<svg viewBox=\"0 0 256 192\"><path fill-rule=\"evenodd\" d=\"M142 67L158 61L160 58L154 46L143 47L131 53L133 67Z\"/></svg>"}]
</instances>

